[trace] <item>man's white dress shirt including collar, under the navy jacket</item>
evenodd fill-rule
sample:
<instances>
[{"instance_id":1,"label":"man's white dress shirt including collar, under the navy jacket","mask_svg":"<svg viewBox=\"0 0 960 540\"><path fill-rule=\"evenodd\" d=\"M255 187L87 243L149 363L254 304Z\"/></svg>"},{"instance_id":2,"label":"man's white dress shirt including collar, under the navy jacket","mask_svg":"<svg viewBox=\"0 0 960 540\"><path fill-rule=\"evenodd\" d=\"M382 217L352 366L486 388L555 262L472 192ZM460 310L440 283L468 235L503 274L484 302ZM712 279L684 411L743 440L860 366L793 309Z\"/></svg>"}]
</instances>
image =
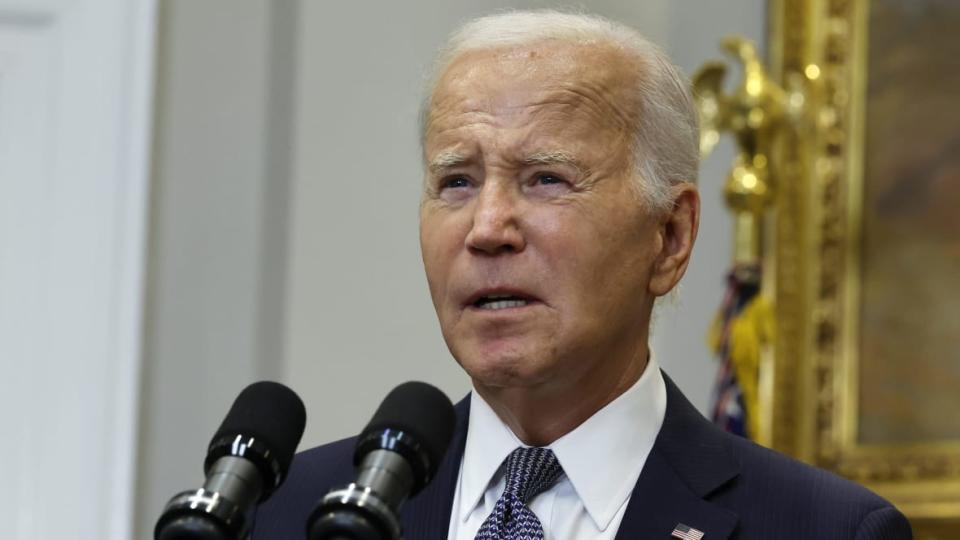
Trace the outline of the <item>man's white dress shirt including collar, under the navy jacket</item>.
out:
<instances>
[{"instance_id":1,"label":"man's white dress shirt including collar, under the navy jacket","mask_svg":"<svg viewBox=\"0 0 960 540\"><path fill-rule=\"evenodd\" d=\"M629 390L548 446L564 475L527 501L543 524L545 540L613 540L666 409L666 385L650 355L643 375ZM474 540L503 493L503 461L519 446L527 445L472 392L450 540Z\"/></svg>"}]
</instances>

